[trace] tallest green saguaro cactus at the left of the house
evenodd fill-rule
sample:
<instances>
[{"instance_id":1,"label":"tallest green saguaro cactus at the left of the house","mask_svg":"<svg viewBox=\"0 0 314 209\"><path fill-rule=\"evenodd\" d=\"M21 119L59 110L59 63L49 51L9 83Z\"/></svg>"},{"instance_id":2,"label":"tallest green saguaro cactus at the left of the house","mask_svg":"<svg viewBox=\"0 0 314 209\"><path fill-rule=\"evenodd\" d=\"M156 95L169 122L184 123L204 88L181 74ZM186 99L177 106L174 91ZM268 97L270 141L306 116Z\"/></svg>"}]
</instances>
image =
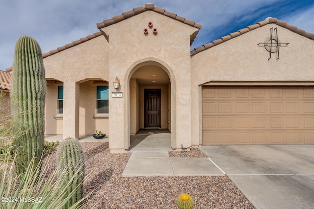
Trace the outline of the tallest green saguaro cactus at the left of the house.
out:
<instances>
[{"instance_id":1,"label":"tallest green saguaro cactus at the left of the house","mask_svg":"<svg viewBox=\"0 0 314 209\"><path fill-rule=\"evenodd\" d=\"M23 133L16 141L19 147L16 165L22 174L33 157L35 165L40 162L44 149L46 80L42 52L34 38L18 39L12 71L13 122Z\"/></svg>"}]
</instances>

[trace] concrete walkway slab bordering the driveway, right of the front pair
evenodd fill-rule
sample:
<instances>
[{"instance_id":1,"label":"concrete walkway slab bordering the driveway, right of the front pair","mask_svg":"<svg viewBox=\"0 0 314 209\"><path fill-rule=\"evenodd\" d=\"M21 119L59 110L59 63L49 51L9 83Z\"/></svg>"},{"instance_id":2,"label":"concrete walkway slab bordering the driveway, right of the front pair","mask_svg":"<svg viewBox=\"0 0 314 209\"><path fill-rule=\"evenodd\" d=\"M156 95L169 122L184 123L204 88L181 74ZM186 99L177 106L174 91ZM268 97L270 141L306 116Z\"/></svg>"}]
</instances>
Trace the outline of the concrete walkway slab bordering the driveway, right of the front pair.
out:
<instances>
[{"instance_id":1,"label":"concrete walkway slab bordering the driveway, right of the front pair","mask_svg":"<svg viewBox=\"0 0 314 209\"><path fill-rule=\"evenodd\" d=\"M208 158L170 158L176 176L224 175Z\"/></svg>"}]
</instances>

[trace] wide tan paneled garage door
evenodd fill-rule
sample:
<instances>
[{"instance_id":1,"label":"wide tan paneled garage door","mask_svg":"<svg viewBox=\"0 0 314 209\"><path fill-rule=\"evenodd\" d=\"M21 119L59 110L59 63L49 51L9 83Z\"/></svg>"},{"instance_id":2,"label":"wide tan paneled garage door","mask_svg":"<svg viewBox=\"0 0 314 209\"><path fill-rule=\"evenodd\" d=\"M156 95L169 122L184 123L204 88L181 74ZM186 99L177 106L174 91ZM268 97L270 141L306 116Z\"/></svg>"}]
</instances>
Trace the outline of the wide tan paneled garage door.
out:
<instances>
[{"instance_id":1,"label":"wide tan paneled garage door","mask_svg":"<svg viewBox=\"0 0 314 209\"><path fill-rule=\"evenodd\" d=\"M314 143L314 87L203 87L203 144Z\"/></svg>"}]
</instances>

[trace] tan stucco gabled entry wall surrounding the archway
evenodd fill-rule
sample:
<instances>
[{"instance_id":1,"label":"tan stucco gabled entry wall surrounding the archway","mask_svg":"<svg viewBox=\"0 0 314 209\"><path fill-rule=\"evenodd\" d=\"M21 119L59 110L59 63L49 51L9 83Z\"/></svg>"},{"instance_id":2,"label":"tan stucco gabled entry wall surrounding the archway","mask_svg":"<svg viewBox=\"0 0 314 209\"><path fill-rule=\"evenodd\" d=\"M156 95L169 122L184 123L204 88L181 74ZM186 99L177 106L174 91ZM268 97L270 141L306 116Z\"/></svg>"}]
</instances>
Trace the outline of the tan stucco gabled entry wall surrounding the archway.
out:
<instances>
[{"instance_id":1,"label":"tan stucco gabled entry wall surrounding the archway","mask_svg":"<svg viewBox=\"0 0 314 209\"><path fill-rule=\"evenodd\" d=\"M157 35L148 28L149 21L157 28ZM148 28L148 35L144 35L144 28ZM156 63L161 64L171 81L172 147L190 145L190 35L198 29L146 11L101 30L109 37L109 82L118 76L121 84L118 91L123 92L123 98L110 98L110 149L122 150L130 146L129 82L132 73L143 65ZM115 90L109 86L109 92L112 91ZM121 116L113 118L111 115Z\"/></svg>"}]
</instances>

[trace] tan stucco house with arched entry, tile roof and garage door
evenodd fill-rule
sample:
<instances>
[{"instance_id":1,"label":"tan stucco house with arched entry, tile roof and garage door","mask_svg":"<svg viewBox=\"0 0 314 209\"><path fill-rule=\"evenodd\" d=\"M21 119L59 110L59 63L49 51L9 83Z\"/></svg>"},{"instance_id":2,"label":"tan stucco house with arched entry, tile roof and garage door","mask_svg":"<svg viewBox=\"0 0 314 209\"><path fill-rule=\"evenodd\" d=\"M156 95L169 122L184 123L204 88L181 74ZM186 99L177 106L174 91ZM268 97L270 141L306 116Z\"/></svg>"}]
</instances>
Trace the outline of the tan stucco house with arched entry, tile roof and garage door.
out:
<instances>
[{"instance_id":1,"label":"tan stucco house with arched entry, tile roof and garage door","mask_svg":"<svg viewBox=\"0 0 314 209\"><path fill-rule=\"evenodd\" d=\"M43 54L46 135L101 130L111 152L149 128L173 149L314 143L314 34L267 18L191 51L202 25L155 4L97 27Z\"/></svg>"}]
</instances>

